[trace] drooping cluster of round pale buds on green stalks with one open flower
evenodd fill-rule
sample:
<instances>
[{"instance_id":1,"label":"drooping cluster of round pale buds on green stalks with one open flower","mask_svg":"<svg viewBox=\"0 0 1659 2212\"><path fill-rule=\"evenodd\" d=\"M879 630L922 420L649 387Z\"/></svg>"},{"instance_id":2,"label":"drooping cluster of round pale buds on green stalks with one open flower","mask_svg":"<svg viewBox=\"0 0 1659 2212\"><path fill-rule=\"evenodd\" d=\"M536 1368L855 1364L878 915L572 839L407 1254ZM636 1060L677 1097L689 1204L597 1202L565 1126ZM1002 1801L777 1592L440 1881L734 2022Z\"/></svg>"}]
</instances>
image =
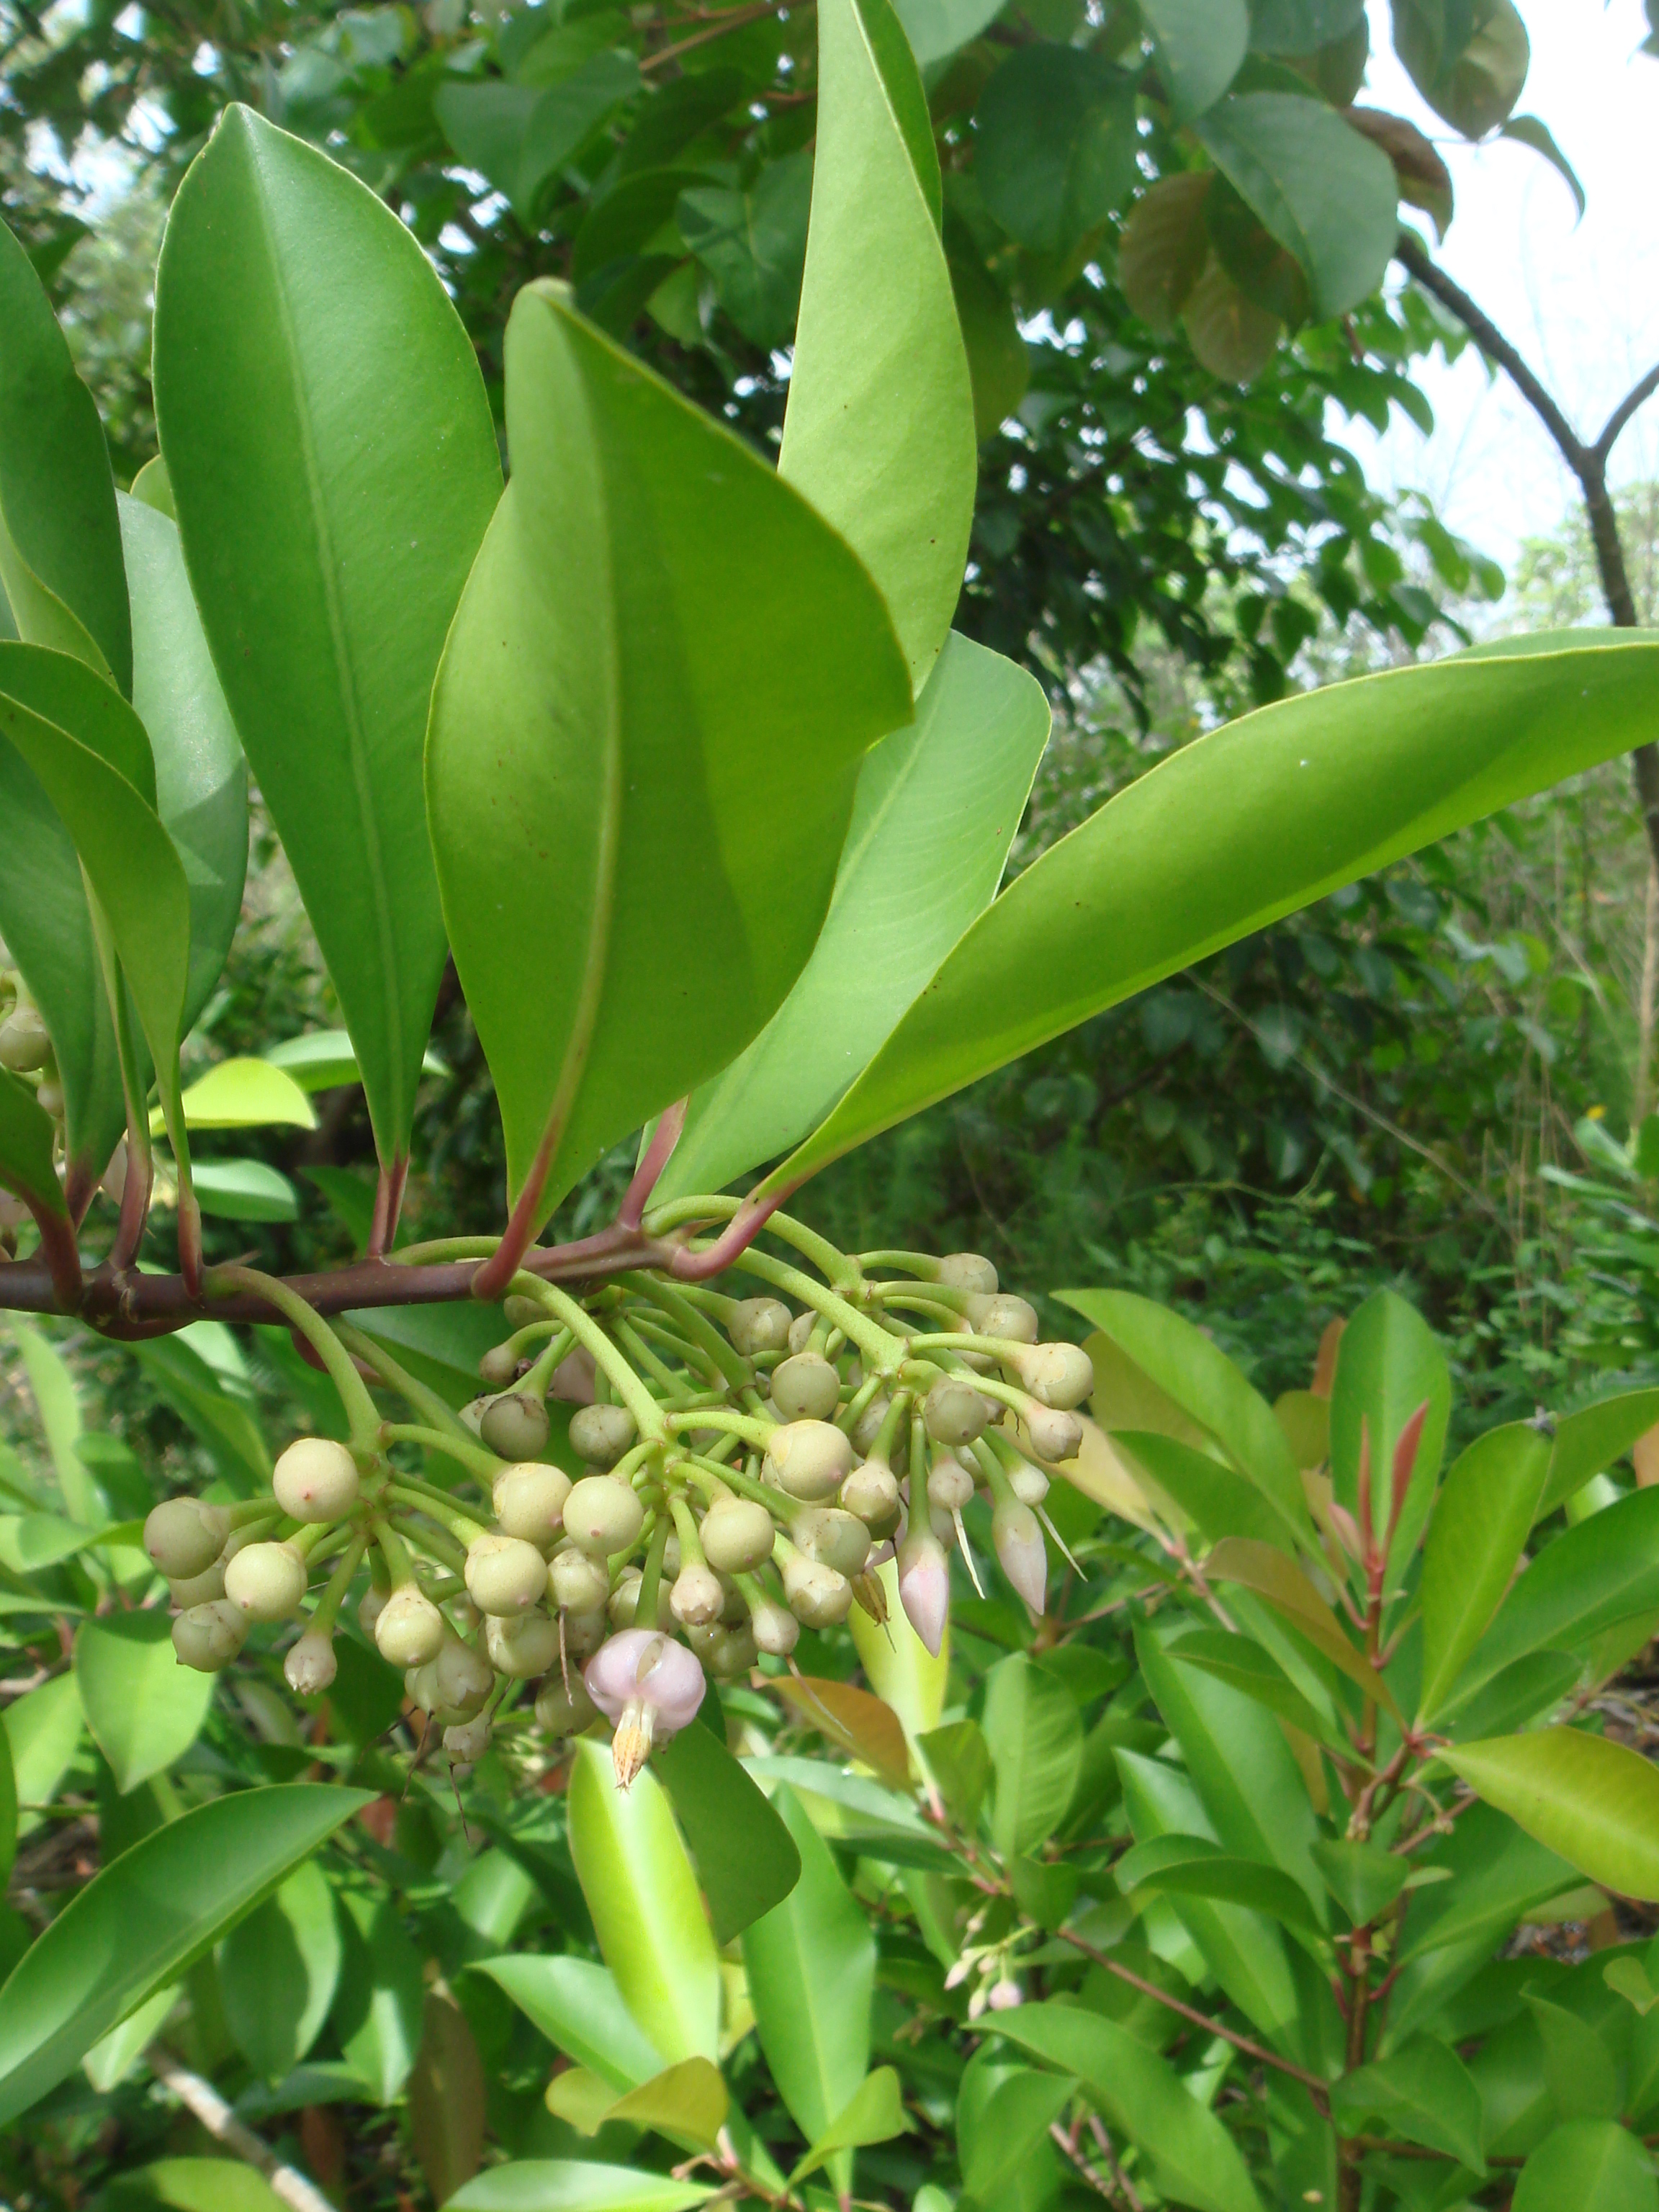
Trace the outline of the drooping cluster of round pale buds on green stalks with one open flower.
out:
<instances>
[{"instance_id":1,"label":"drooping cluster of round pale buds on green stalks with one open flower","mask_svg":"<svg viewBox=\"0 0 1659 2212\"><path fill-rule=\"evenodd\" d=\"M978 1254L852 1259L787 1217L770 1234L794 1252L743 1254L768 1285L752 1298L653 1270L580 1301L515 1276L511 1334L480 1363L491 1389L460 1416L378 1340L257 1279L341 1385L352 1433L290 1444L272 1498L150 1513L179 1659L226 1666L252 1624L301 1619L316 1588L285 1672L294 1692L325 1690L341 1606L367 1577L358 1619L453 1765L531 1710L553 1736L604 1717L626 1785L692 1719L706 1672L787 1659L803 1626L854 1604L885 1621L885 1559L938 1652L951 1551L982 1588L962 1522L975 1493L1040 1613L1048 1469L1082 1444L1086 1354L1037 1343L1033 1307ZM365 1374L414 1418L385 1418ZM571 1469L549 1455L551 1396L575 1402ZM405 1464L416 1447L425 1475ZM427 1480L436 1464L453 1486Z\"/></svg>"}]
</instances>

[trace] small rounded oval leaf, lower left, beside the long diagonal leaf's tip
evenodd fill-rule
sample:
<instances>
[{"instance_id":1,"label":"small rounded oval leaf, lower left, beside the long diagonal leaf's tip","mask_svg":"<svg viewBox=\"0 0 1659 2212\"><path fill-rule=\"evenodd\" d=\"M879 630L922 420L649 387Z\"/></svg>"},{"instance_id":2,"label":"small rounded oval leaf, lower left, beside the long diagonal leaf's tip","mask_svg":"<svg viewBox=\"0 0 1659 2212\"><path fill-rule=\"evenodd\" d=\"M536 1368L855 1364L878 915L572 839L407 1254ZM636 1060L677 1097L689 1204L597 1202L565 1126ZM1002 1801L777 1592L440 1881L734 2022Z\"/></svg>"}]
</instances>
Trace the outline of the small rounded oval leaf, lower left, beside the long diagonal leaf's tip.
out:
<instances>
[{"instance_id":1,"label":"small rounded oval leaf, lower left, beside the long diagonal leaf's tip","mask_svg":"<svg viewBox=\"0 0 1659 2212\"><path fill-rule=\"evenodd\" d=\"M334 1891L316 1865L294 1867L226 1936L219 1997L257 2075L279 2081L312 2048L334 2004L343 1958Z\"/></svg>"}]
</instances>

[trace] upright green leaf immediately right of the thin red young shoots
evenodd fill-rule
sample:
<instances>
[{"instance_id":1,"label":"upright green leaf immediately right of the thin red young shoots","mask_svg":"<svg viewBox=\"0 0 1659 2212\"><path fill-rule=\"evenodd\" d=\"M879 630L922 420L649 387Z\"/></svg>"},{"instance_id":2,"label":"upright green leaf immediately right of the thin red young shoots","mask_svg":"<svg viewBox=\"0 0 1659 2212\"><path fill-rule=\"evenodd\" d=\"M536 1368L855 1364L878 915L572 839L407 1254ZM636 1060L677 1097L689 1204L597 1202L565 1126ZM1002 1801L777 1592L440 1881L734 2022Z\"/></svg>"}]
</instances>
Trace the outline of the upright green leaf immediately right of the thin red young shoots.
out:
<instances>
[{"instance_id":1,"label":"upright green leaf immediately right of the thin red young shoots","mask_svg":"<svg viewBox=\"0 0 1659 2212\"><path fill-rule=\"evenodd\" d=\"M1422 1690L1431 1721L1502 1604L1551 1469L1526 1422L1491 1429L1447 1471L1422 1546Z\"/></svg>"}]
</instances>

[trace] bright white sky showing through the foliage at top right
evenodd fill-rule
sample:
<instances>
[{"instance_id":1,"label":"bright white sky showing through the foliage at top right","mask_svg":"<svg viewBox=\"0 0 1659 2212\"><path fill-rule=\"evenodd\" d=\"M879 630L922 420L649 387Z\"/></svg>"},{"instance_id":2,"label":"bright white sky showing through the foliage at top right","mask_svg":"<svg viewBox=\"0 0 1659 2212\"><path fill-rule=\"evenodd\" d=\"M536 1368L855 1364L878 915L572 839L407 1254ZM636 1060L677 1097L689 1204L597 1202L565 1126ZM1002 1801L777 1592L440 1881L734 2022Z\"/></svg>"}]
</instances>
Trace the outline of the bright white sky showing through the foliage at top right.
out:
<instances>
[{"instance_id":1,"label":"bright white sky showing through the foliage at top right","mask_svg":"<svg viewBox=\"0 0 1659 2212\"><path fill-rule=\"evenodd\" d=\"M1588 197L1579 221L1562 177L1526 146L1467 146L1418 97L1389 46L1387 9L1371 0L1369 106L1411 117L1444 155L1455 215L1440 263L1513 338L1568 420L1601 422L1659 361L1659 60L1639 51L1641 0L1520 0L1533 64L1517 113L1537 115ZM1427 221L1427 219L1422 219ZM1396 414L1378 440L1343 431L1383 489L1420 489L1451 529L1509 564L1575 498L1548 434L1469 349L1418 380L1436 411L1425 438ZM1659 476L1659 398L1615 449L1613 478Z\"/></svg>"}]
</instances>

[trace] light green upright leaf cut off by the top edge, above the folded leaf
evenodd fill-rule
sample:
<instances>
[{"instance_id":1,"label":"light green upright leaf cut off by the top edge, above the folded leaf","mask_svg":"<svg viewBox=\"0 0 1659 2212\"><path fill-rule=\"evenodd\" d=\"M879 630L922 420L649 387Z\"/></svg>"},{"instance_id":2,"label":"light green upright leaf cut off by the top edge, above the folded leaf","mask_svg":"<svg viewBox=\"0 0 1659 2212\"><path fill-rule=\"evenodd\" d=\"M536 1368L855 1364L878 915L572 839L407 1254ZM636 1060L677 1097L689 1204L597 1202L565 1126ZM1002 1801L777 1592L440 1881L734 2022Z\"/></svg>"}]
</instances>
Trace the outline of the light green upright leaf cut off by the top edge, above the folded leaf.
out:
<instances>
[{"instance_id":1,"label":"light green upright leaf cut off by the top edge, above the folded leaf","mask_svg":"<svg viewBox=\"0 0 1659 2212\"><path fill-rule=\"evenodd\" d=\"M880 584L918 692L962 591L978 467L938 212L933 126L889 0L821 0L818 150L779 469Z\"/></svg>"}]
</instances>

